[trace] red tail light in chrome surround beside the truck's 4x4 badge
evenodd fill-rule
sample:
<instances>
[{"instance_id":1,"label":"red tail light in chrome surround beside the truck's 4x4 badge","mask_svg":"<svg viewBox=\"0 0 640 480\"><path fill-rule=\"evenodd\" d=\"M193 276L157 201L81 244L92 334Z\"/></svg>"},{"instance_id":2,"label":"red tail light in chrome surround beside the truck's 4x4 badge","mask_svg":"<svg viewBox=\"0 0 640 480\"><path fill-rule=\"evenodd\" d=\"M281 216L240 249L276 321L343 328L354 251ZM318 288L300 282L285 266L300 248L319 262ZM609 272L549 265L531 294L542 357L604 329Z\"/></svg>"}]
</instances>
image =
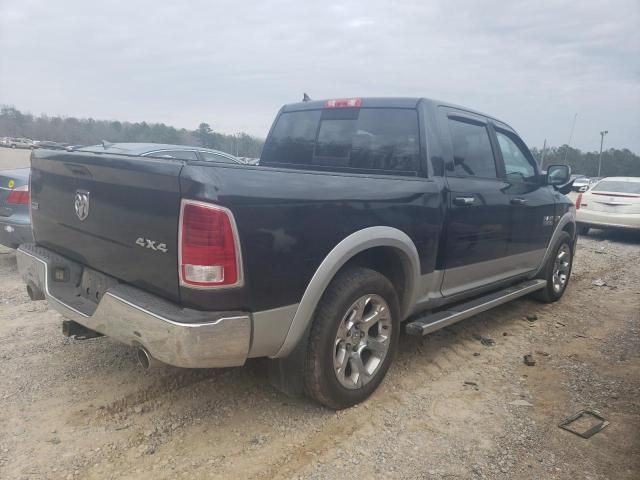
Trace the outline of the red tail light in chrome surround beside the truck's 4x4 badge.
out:
<instances>
[{"instance_id":1,"label":"red tail light in chrome surround beside the truck's 4x4 badge","mask_svg":"<svg viewBox=\"0 0 640 480\"><path fill-rule=\"evenodd\" d=\"M229 210L183 200L179 231L180 284L192 288L242 284L238 232Z\"/></svg>"}]
</instances>

